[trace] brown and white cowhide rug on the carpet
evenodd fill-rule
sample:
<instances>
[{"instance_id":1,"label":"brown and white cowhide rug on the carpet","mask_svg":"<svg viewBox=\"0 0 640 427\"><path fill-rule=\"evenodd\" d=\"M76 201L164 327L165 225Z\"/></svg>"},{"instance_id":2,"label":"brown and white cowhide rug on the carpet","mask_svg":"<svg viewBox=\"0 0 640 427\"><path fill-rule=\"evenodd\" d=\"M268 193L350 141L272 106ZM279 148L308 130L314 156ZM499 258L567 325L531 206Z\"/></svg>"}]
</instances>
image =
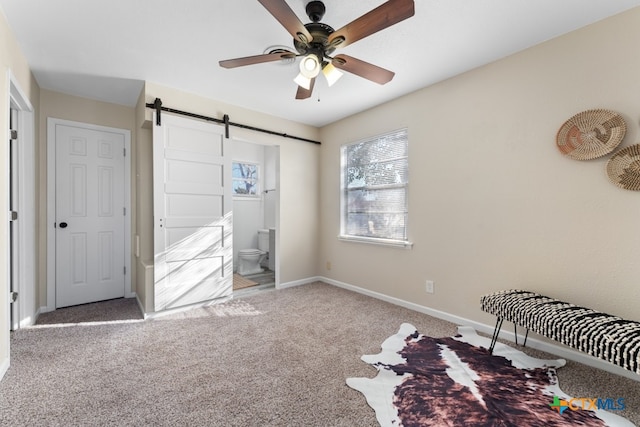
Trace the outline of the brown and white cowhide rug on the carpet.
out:
<instances>
[{"instance_id":1,"label":"brown and white cowhide rug on the carpet","mask_svg":"<svg viewBox=\"0 0 640 427\"><path fill-rule=\"evenodd\" d=\"M633 427L603 410L559 410L571 399L558 386L563 359L535 359L501 343L491 355L489 339L470 327L458 332L430 338L404 323L380 354L362 356L378 375L347 384L365 395L381 426Z\"/></svg>"}]
</instances>

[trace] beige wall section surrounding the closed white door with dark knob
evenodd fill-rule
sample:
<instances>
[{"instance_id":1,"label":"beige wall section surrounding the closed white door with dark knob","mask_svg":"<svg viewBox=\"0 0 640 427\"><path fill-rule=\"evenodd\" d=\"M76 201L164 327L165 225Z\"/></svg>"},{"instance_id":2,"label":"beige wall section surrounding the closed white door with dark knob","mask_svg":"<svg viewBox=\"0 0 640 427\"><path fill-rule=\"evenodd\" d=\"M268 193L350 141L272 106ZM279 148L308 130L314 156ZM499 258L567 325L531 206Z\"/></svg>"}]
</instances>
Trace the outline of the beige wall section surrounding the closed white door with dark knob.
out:
<instances>
[{"instance_id":1,"label":"beige wall section surrounding the closed white door with dark knob","mask_svg":"<svg viewBox=\"0 0 640 427\"><path fill-rule=\"evenodd\" d=\"M135 129L135 109L122 105L110 104L92 99L80 98L73 95L66 95L49 90L40 91L40 141L38 144L38 266L39 266L39 305L45 307L47 304L47 119L48 118L72 120L76 122L89 123L99 126L108 126L131 131L131 140L136 139ZM133 146L133 143L132 143ZM131 176L135 177L135 150L132 147ZM131 190L131 198L135 200L135 188ZM132 202L132 207L134 206ZM135 208L131 215L135 219ZM135 222L132 224L135 229ZM132 277L136 277L135 263L132 262ZM134 280L132 280L132 287ZM134 289L135 291L135 289ZM52 308L52 307L51 307Z\"/></svg>"}]
</instances>

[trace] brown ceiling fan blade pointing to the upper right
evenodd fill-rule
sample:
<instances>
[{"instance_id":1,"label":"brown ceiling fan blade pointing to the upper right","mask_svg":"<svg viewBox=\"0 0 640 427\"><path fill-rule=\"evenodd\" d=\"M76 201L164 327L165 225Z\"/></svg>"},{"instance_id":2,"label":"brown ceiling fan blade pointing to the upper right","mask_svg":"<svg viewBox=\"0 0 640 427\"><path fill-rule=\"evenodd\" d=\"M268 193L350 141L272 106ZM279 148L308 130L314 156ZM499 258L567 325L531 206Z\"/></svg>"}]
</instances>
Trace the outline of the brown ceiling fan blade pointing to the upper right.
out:
<instances>
[{"instance_id":1,"label":"brown ceiling fan blade pointing to the upper right","mask_svg":"<svg viewBox=\"0 0 640 427\"><path fill-rule=\"evenodd\" d=\"M414 15L413 0L389 0L329 36L329 45L345 47Z\"/></svg>"}]
</instances>

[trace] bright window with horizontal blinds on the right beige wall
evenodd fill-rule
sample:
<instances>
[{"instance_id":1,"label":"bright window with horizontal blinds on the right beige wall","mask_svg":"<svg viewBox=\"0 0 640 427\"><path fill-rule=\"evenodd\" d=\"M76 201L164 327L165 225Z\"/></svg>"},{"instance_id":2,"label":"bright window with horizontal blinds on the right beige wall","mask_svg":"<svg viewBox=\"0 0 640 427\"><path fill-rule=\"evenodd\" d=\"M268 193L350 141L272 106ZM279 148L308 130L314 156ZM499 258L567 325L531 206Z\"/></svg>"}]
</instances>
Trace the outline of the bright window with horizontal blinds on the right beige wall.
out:
<instances>
[{"instance_id":1,"label":"bright window with horizontal blinds on the right beige wall","mask_svg":"<svg viewBox=\"0 0 640 427\"><path fill-rule=\"evenodd\" d=\"M407 129L342 146L340 238L411 245L408 146Z\"/></svg>"}]
</instances>

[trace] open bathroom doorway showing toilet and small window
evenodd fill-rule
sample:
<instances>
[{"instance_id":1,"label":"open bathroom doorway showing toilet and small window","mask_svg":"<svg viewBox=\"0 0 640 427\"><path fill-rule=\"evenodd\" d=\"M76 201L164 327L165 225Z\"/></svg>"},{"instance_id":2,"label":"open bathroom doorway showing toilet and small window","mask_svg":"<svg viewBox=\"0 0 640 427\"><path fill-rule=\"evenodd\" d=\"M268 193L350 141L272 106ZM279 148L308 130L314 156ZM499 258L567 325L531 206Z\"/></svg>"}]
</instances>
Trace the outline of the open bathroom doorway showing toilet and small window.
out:
<instances>
[{"instance_id":1,"label":"open bathroom doorway showing toilet and small window","mask_svg":"<svg viewBox=\"0 0 640 427\"><path fill-rule=\"evenodd\" d=\"M280 147L233 140L234 294L278 280Z\"/></svg>"}]
</instances>

